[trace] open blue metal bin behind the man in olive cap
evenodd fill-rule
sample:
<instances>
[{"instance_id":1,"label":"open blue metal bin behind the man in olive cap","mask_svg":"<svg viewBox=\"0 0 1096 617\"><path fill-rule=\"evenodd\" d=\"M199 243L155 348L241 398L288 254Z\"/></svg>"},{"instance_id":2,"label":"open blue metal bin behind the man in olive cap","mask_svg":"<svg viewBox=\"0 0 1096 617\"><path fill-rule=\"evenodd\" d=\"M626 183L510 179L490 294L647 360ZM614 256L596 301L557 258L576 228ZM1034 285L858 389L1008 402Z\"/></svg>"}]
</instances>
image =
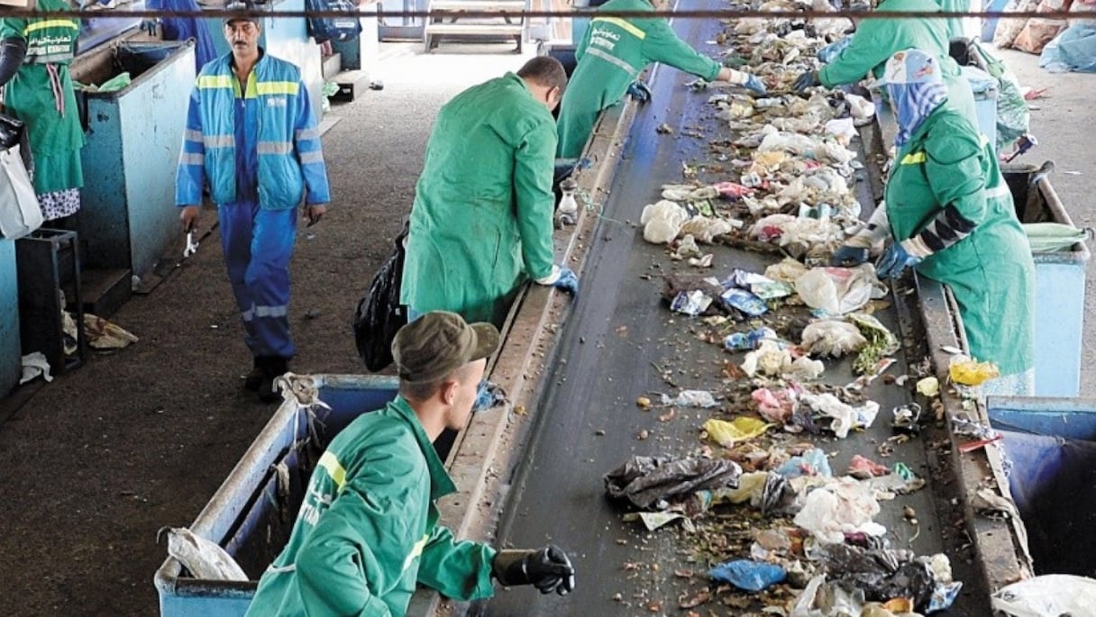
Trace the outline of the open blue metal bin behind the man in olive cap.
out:
<instances>
[{"instance_id":1,"label":"open blue metal bin behind the man in olive cap","mask_svg":"<svg viewBox=\"0 0 1096 617\"><path fill-rule=\"evenodd\" d=\"M287 400L190 529L228 551L251 581L202 581L184 572L169 557L156 571L153 583L163 617L240 617L251 604L262 575L289 539L312 468L335 434L354 419L396 398L395 377L315 375L319 399L330 411ZM283 473L275 471L279 467Z\"/></svg>"}]
</instances>

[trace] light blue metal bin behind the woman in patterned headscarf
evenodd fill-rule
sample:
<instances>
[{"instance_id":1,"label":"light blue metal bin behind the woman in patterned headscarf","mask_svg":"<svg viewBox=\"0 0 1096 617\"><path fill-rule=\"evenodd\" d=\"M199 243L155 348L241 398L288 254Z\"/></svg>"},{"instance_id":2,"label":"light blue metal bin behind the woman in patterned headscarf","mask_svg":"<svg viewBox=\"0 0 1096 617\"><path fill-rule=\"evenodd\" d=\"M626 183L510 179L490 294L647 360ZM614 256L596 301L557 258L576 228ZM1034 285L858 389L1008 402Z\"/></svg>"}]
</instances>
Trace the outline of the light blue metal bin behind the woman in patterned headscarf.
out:
<instances>
[{"instance_id":1,"label":"light blue metal bin behind the woman in patterned headscarf","mask_svg":"<svg viewBox=\"0 0 1096 617\"><path fill-rule=\"evenodd\" d=\"M1036 165L1002 165L1020 222L1073 225L1046 175ZM1035 393L1076 397L1081 392L1081 350L1088 248L1032 253L1035 259Z\"/></svg>"}]
</instances>

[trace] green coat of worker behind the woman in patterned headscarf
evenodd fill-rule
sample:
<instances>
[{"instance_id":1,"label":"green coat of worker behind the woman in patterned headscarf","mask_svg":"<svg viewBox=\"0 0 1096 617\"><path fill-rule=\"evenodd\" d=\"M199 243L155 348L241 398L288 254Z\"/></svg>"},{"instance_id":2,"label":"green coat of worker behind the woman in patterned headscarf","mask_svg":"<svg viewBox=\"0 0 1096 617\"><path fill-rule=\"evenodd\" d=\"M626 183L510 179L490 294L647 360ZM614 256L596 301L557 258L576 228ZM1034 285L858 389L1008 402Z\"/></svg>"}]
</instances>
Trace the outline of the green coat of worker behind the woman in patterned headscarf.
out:
<instances>
[{"instance_id":1,"label":"green coat of worker behind the woman in patterned headscarf","mask_svg":"<svg viewBox=\"0 0 1096 617\"><path fill-rule=\"evenodd\" d=\"M886 0L879 12L939 11L933 0ZM819 69L822 85L833 88L854 83L870 73L878 78L887 60L903 49L921 49L940 62L944 83L948 87L949 107L959 110L978 126L974 94L962 76L959 65L948 55L948 23L944 19L870 19L863 20L853 34L853 42L830 64Z\"/></svg>"}]
</instances>

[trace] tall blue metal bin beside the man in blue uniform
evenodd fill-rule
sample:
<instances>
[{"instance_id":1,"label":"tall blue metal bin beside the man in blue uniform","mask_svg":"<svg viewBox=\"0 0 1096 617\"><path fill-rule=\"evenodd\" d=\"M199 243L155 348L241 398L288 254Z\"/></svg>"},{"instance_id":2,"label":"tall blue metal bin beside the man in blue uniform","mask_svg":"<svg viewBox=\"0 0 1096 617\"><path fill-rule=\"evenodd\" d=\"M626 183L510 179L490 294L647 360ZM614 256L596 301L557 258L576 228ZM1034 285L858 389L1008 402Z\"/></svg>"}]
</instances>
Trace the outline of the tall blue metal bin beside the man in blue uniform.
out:
<instances>
[{"instance_id":1,"label":"tall blue metal bin beside the man in blue uniform","mask_svg":"<svg viewBox=\"0 0 1096 617\"><path fill-rule=\"evenodd\" d=\"M88 243L89 267L142 275L179 233L174 178L190 98L190 88L179 84L194 82L194 47L190 42L119 47L170 54L127 88L89 94L78 231Z\"/></svg>"}]
</instances>

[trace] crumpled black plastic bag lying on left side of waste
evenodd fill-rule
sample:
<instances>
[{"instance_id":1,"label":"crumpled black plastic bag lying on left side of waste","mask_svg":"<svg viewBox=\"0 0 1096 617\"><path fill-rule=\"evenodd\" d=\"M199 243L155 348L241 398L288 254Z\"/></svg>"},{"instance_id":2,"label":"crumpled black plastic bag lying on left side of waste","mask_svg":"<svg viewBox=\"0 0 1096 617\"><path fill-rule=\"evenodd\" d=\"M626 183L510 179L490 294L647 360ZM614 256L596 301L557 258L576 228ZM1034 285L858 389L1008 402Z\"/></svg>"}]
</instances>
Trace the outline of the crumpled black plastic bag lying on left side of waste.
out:
<instances>
[{"instance_id":1,"label":"crumpled black plastic bag lying on left side of waste","mask_svg":"<svg viewBox=\"0 0 1096 617\"><path fill-rule=\"evenodd\" d=\"M703 489L737 487L741 475L727 459L633 456L605 475L605 492L647 510Z\"/></svg>"}]
</instances>

